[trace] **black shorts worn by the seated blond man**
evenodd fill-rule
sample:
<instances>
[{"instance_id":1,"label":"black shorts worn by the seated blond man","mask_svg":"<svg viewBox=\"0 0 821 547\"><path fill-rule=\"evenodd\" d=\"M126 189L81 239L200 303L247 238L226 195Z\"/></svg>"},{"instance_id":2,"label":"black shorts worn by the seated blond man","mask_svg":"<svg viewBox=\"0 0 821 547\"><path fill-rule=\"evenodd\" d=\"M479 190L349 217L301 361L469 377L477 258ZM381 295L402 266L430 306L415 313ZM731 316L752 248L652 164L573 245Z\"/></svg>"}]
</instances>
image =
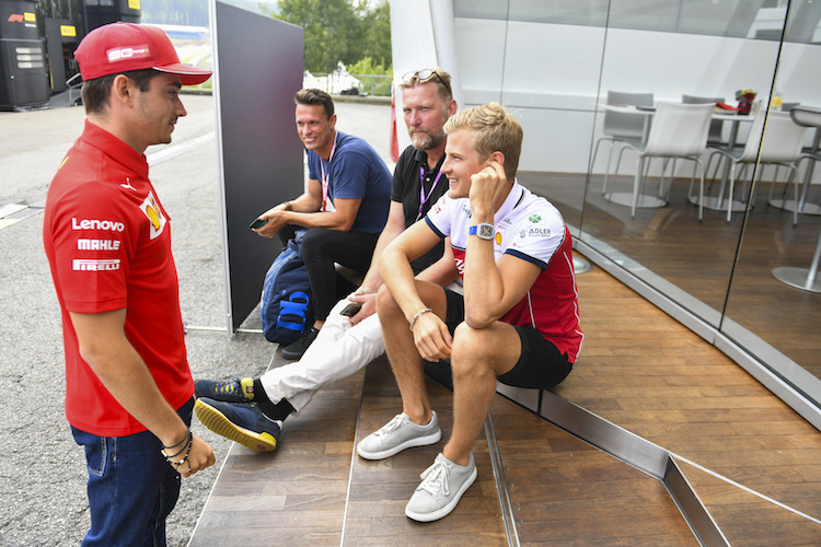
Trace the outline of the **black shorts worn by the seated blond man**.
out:
<instances>
[{"instance_id":1,"label":"black shorts worn by the seated blond man","mask_svg":"<svg viewBox=\"0 0 821 547\"><path fill-rule=\"evenodd\" d=\"M444 323L453 334L464 321L464 296L450 289L444 289L444 295L448 300ZM550 389L570 374L573 363L567 361L567 353L562 353L533 327L511 326L519 334L521 356L510 371L496 377L499 382L514 387Z\"/></svg>"}]
</instances>

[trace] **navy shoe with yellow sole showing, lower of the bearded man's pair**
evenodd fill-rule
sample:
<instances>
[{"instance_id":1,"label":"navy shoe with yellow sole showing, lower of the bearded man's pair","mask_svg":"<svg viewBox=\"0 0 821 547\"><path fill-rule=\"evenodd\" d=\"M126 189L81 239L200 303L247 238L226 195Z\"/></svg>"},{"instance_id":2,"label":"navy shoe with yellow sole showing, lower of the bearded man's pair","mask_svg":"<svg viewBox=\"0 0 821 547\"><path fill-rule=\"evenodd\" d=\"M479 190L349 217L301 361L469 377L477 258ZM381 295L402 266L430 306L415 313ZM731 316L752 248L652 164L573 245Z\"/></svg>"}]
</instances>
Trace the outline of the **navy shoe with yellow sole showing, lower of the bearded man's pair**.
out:
<instances>
[{"instance_id":1,"label":"navy shoe with yellow sole showing, lower of the bearded man's pair","mask_svg":"<svg viewBox=\"0 0 821 547\"><path fill-rule=\"evenodd\" d=\"M194 404L194 411L205 427L254 452L277 449L282 422L269 419L256 403L226 403L200 397Z\"/></svg>"}]
</instances>

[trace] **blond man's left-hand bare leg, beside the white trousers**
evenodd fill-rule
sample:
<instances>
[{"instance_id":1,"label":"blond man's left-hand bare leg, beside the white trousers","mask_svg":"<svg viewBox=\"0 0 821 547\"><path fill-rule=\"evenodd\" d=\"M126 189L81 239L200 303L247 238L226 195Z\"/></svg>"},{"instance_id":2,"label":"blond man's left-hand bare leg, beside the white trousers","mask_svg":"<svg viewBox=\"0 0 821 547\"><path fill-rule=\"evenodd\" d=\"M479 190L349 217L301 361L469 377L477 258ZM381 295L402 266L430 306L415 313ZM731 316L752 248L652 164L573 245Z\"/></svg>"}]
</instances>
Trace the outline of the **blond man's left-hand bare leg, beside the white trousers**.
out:
<instances>
[{"instance_id":1,"label":"blond man's left-hand bare leg, beside the white trousers","mask_svg":"<svg viewBox=\"0 0 821 547\"><path fill-rule=\"evenodd\" d=\"M448 307L444 289L438 284L417 280L416 290L425 305L444 321ZM433 414L425 388L423 360L414 344L414 335L408 328L405 314L384 287L380 289L377 296L377 311L382 323L385 352L402 394L402 410L410 418L410 421L425 426Z\"/></svg>"}]
</instances>

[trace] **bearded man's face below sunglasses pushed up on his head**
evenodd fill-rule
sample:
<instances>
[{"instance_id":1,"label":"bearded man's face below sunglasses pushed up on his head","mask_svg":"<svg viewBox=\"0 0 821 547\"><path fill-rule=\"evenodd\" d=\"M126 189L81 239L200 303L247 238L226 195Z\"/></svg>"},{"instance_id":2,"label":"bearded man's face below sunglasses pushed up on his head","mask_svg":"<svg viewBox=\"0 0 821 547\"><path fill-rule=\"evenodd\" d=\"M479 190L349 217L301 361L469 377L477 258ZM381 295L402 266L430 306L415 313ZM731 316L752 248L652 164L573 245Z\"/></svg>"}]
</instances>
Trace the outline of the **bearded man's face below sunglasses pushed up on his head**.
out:
<instances>
[{"instance_id":1,"label":"bearded man's face below sunglasses pushed up on his head","mask_svg":"<svg viewBox=\"0 0 821 547\"><path fill-rule=\"evenodd\" d=\"M448 105L439 96L436 82L426 82L402 90L402 112L410 136L418 150L431 150L444 140L444 121Z\"/></svg>"}]
</instances>

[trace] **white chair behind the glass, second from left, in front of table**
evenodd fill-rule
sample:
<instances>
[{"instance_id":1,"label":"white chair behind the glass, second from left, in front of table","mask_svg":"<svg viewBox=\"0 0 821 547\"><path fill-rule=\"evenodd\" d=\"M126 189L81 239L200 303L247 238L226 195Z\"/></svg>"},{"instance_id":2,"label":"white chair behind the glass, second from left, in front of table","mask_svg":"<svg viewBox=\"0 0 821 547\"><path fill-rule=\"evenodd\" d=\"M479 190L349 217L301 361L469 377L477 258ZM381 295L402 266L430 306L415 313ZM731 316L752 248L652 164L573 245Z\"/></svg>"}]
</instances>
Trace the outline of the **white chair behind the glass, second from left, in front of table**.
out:
<instances>
[{"instance_id":1,"label":"white chair behind the glass, second from left, in front of table","mask_svg":"<svg viewBox=\"0 0 821 547\"><path fill-rule=\"evenodd\" d=\"M627 143L622 152L618 154L618 162L616 162L615 173L613 178L618 176L618 165L622 161L622 153L624 150L635 150L638 152L636 159L636 176L633 183L633 200L631 203L631 217L636 217L636 207L638 205L639 187L641 186L645 167L649 166L649 162L646 165L645 160L652 160L654 158L672 159L672 168L670 171L670 179L672 181L675 174L675 160L690 160L695 162L696 167L701 165L701 189L699 196L702 199L698 200L698 220L702 220L703 208L702 201L704 201L704 162L701 155L707 149L707 135L709 132L710 117L715 106L713 104L683 104L683 103L671 103L671 102L659 102L656 107L656 115L652 119L652 127L650 128L650 135L647 137L646 143ZM661 168L661 183L659 185L659 194L661 194L661 186L663 185L663 175L667 162ZM693 178L695 178L696 171L693 172ZM692 184L692 183L691 183Z\"/></svg>"}]
</instances>

